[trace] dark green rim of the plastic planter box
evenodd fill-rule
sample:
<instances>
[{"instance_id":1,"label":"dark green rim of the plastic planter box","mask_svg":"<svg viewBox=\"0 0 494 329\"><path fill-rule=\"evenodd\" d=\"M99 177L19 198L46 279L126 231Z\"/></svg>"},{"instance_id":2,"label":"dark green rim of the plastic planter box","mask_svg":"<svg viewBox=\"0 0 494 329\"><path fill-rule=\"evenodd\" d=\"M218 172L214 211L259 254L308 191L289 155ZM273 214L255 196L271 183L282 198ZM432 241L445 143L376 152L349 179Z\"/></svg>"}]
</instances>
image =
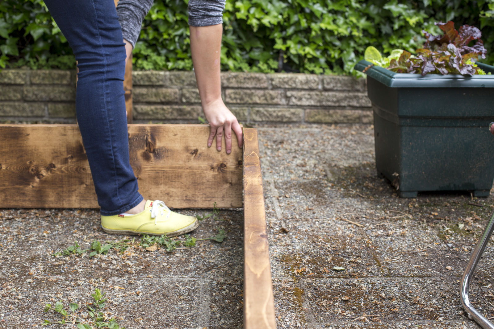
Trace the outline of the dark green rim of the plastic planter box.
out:
<instances>
[{"instance_id":1,"label":"dark green rim of the plastic planter box","mask_svg":"<svg viewBox=\"0 0 494 329\"><path fill-rule=\"evenodd\" d=\"M366 73L368 77L374 78L388 87L395 88L494 88L494 67L478 62L477 65L484 71L493 74L476 74L472 76L461 74L426 74L422 76L421 74L395 73L366 60L358 62L355 65L355 69Z\"/></svg>"}]
</instances>

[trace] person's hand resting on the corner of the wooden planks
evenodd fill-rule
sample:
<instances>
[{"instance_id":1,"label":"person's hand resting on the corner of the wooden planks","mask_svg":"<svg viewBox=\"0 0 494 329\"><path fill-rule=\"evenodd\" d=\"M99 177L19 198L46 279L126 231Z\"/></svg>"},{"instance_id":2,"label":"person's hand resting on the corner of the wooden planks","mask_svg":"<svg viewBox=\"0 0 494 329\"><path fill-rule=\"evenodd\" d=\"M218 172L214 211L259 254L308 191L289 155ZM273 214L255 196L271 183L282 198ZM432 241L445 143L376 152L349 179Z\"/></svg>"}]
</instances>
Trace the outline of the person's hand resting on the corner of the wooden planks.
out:
<instances>
[{"instance_id":1,"label":"person's hand resting on the corner of the wooden planks","mask_svg":"<svg viewBox=\"0 0 494 329\"><path fill-rule=\"evenodd\" d=\"M225 135L226 154L230 154L232 152L232 130L237 135L239 147L242 147L244 142L242 127L221 98L203 106L203 110L211 129L207 138L207 147L213 144L214 136L216 136L216 149L221 151L221 140Z\"/></svg>"}]
</instances>

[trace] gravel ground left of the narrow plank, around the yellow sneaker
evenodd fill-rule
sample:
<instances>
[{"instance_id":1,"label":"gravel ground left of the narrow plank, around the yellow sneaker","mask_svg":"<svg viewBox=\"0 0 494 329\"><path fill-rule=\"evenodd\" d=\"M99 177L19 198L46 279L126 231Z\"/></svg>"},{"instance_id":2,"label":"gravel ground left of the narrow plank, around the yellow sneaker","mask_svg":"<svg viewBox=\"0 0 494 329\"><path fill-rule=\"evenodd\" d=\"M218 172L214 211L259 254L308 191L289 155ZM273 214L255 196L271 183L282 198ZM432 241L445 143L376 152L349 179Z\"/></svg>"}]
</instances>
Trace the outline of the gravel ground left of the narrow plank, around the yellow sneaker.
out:
<instances>
[{"instance_id":1,"label":"gravel ground left of the narrow plank, around the yellow sneaker","mask_svg":"<svg viewBox=\"0 0 494 329\"><path fill-rule=\"evenodd\" d=\"M123 253L94 257L52 254L76 240L86 249L95 240L126 238L101 231L97 211L9 209L0 218L0 328L59 321L60 315L43 313L45 303L85 305L95 288L107 292L105 314L127 329L242 328L242 212L221 211L218 220L203 220L192 234L206 238L221 227L227 232L222 243L198 241L195 248L171 253L129 243Z\"/></svg>"}]
</instances>

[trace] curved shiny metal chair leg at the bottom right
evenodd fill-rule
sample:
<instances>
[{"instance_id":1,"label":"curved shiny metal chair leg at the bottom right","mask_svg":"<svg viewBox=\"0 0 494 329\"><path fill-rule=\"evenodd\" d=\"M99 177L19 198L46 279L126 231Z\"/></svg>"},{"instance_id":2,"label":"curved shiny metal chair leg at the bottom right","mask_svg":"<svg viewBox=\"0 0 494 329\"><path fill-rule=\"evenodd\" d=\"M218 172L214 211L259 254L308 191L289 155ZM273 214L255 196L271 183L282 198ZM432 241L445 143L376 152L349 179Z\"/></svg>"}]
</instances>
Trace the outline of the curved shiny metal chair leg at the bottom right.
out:
<instances>
[{"instance_id":1,"label":"curved shiny metal chair leg at the bottom right","mask_svg":"<svg viewBox=\"0 0 494 329\"><path fill-rule=\"evenodd\" d=\"M465 273L463 273L463 278L461 279L461 305L463 305L463 308L468 313L469 317L475 320L475 322L477 322L484 329L494 329L494 325L472 306L470 303L470 298L468 297L468 286L470 285L470 279L473 271L475 270L482 253L484 253L484 249L486 249L487 243L489 242L493 231L494 211L491 214L491 218L487 222L486 227L484 228L484 232L482 232L479 242L477 242L477 245L473 250L472 256L466 265Z\"/></svg>"}]
</instances>

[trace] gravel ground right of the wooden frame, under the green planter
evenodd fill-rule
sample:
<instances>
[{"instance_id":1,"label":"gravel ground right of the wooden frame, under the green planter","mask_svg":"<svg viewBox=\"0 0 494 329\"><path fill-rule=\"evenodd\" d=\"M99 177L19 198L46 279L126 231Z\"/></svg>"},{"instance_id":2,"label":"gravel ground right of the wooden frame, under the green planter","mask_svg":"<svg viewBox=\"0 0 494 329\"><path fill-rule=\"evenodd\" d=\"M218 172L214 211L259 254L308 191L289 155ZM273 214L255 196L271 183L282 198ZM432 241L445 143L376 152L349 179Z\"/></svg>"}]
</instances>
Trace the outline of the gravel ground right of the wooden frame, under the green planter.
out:
<instances>
[{"instance_id":1,"label":"gravel ground right of the wooden frame, under the green planter","mask_svg":"<svg viewBox=\"0 0 494 329\"><path fill-rule=\"evenodd\" d=\"M259 135L278 328L480 328L462 310L459 280L493 196L398 198L376 175L371 126ZM488 317L493 253L470 289Z\"/></svg>"}]
</instances>

